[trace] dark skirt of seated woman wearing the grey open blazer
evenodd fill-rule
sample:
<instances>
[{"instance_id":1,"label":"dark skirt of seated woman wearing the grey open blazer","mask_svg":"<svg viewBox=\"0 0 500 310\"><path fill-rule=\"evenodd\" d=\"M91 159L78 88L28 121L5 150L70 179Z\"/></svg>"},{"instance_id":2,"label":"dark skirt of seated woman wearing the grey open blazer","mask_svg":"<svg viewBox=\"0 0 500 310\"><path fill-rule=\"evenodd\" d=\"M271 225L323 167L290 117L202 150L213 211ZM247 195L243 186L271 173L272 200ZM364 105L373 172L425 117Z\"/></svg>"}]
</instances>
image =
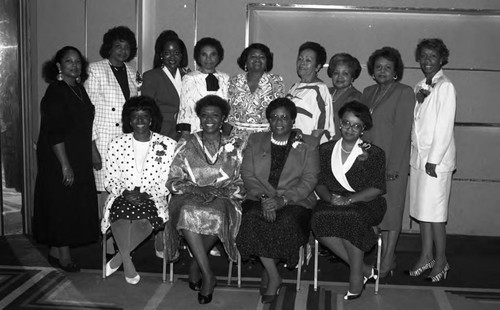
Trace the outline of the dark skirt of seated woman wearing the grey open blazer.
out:
<instances>
[{"instance_id":1,"label":"dark skirt of seated woman wearing the grey open blazer","mask_svg":"<svg viewBox=\"0 0 500 310\"><path fill-rule=\"evenodd\" d=\"M262 216L260 201L245 200L243 219L236 244L243 259L250 256L278 259L288 266L299 261L299 248L309 240L312 211L287 205L276 212L276 221Z\"/></svg>"}]
</instances>

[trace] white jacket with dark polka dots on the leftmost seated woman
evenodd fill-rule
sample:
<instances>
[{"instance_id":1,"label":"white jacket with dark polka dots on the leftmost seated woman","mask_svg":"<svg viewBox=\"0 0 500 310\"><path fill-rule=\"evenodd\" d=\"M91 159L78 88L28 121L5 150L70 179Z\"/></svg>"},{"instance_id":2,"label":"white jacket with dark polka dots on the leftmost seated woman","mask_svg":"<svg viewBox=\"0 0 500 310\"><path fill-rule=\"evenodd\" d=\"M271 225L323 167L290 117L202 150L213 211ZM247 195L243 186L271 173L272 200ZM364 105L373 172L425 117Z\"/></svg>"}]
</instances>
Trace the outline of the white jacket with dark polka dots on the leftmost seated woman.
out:
<instances>
[{"instance_id":1,"label":"white jacket with dark polka dots on the leftmost seated woman","mask_svg":"<svg viewBox=\"0 0 500 310\"><path fill-rule=\"evenodd\" d=\"M106 189L110 193L104 207L101 231L104 233L110 226L110 210L116 198L124 190L133 190L137 186L137 174L140 174L140 191L148 193L157 208L158 217L163 222L168 220L166 187L170 164L175 151L175 140L154 133L149 141L149 148L143 163L142 171L137 169L134 155L133 134L124 134L114 139L106 156Z\"/></svg>"}]
</instances>

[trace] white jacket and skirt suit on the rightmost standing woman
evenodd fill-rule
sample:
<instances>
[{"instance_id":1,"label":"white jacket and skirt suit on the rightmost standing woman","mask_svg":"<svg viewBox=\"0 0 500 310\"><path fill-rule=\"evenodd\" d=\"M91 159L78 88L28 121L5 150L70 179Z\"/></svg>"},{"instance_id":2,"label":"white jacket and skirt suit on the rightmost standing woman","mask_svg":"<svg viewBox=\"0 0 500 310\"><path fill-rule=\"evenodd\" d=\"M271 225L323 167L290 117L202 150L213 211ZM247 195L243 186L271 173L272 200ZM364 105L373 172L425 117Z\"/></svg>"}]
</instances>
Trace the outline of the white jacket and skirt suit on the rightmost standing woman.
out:
<instances>
[{"instance_id":1,"label":"white jacket and skirt suit on the rightmost standing woman","mask_svg":"<svg viewBox=\"0 0 500 310\"><path fill-rule=\"evenodd\" d=\"M451 178L456 168L455 87L443 71L426 85L425 79L415 86L430 91L422 103L417 103L411 140L410 215L424 222L442 223L448 220ZM425 172L425 164L436 165L437 178Z\"/></svg>"}]
</instances>

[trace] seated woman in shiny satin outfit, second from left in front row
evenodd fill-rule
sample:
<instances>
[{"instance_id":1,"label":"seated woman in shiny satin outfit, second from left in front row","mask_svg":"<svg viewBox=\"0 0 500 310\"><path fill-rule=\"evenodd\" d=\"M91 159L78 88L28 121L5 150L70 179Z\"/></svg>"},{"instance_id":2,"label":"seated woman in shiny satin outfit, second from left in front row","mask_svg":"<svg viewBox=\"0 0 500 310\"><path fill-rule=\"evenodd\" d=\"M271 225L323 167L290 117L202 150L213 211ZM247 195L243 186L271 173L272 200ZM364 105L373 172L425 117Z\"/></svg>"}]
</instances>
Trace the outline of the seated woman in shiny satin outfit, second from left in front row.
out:
<instances>
[{"instance_id":1,"label":"seated woman in shiny satin outfit, second from left in front row","mask_svg":"<svg viewBox=\"0 0 500 310\"><path fill-rule=\"evenodd\" d=\"M208 261L210 249L220 240L229 259L236 261L238 256L235 238L244 194L240 178L243 143L222 135L229 110L227 101L216 95L196 103L202 130L179 140L167 182L175 194L165 229L167 259L172 261L179 255L180 232L194 256L189 287L199 291L200 304L212 301L217 284Z\"/></svg>"}]
</instances>

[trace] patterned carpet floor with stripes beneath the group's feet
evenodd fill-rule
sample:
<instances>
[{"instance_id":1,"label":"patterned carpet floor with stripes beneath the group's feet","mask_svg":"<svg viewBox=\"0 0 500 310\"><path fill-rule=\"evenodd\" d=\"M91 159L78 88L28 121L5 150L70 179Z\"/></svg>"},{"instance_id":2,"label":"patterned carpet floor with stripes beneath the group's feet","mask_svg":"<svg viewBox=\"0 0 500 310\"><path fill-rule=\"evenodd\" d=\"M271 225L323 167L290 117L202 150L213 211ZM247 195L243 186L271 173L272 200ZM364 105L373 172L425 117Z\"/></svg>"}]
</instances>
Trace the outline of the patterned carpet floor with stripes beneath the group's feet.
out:
<instances>
[{"instance_id":1,"label":"patterned carpet floor with stripes beneath the group's feet","mask_svg":"<svg viewBox=\"0 0 500 310\"><path fill-rule=\"evenodd\" d=\"M162 283L160 274L141 273L133 286L123 272L102 280L97 270L65 274L49 267L0 266L0 309L500 309L500 290L382 285L374 295L368 285L361 298L346 302L347 283L320 282L314 292L310 281L302 281L299 292L287 281L275 303L262 305L258 285L258 279L244 278L238 288L220 278L212 303L199 305L185 276L170 284Z\"/></svg>"}]
</instances>

